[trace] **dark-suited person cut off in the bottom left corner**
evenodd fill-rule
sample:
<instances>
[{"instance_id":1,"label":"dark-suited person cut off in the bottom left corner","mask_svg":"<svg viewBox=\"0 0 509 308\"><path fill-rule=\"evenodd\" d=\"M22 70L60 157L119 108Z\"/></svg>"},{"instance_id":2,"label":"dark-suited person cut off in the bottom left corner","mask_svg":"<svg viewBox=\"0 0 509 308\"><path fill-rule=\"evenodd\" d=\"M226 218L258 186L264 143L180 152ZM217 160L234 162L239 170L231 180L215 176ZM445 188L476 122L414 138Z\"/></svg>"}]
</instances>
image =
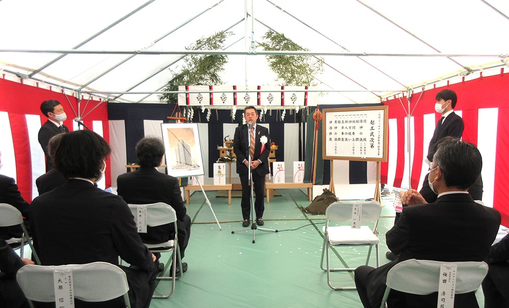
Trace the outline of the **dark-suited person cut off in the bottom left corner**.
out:
<instances>
[{"instance_id":1,"label":"dark-suited person cut off in the bottom left corner","mask_svg":"<svg viewBox=\"0 0 509 308\"><path fill-rule=\"evenodd\" d=\"M2 307L30 307L16 282L16 272L25 264L34 264L34 262L30 259L19 258L6 241L0 240L0 303Z\"/></svg>"}]
</instances>

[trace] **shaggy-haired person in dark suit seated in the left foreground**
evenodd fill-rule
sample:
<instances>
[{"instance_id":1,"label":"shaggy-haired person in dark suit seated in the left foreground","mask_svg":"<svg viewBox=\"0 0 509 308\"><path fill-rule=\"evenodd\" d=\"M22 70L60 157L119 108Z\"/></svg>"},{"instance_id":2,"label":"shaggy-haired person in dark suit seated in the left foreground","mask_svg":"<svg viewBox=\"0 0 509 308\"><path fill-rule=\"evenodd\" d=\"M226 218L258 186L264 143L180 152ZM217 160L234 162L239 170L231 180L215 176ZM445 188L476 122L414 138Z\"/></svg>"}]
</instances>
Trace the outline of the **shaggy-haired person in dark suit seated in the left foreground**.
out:
<instances>
[{"instance_id":1,"label":"shaggy-haired person in dark suit seated in the left foreground","mask_svg":"<svg viewBox=\"0 0 509 308\"><path fill-rule=\"evenodd\" d=\"M94 186L106 169L111 150L91 130L63 134L54 154L56 169L67 182L35 198L31 204L34 248L42 265L96 261L130 267L126 272L133 307L150 305L155 288L155 256L143 244L134 217L118 195ZM122 298L100 305L76 300L76 307L113 307ZM54 303L52 303L54 307Z\"/></svg>"}]
</instances>

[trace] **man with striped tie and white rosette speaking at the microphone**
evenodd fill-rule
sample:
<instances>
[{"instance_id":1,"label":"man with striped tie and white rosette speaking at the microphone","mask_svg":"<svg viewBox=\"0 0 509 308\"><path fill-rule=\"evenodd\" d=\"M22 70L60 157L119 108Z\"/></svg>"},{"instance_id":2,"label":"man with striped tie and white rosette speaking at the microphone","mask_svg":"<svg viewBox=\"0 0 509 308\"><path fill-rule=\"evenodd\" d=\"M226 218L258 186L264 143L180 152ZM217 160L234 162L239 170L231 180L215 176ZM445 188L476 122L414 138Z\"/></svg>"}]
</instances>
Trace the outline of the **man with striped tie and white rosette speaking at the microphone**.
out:
<instances>
[{"instance_id":1,"label":"man with striped tie and white rosette speaking at the microphone","mask_svg":"<svg viewBox=\"0 0 509 308\"><path fill-rule=\"evenodd\" d=\"M269 173L269 130L266 127L257 125L258 111L253 106L244 108L244 120L246 124L235 129L233 139L233 151L237 156L237 173L242 184L242 201L240 203L243 219L242 227L249 226L251 209L250 196L252 187L248 182L248 173L252 175L252 184L256 193L256 200L254 201L256 223L258 226L263 226L265 175ZM251 139L252 143L249 144ZM251 165L249 165L248 155L251 155Z\"/></svg>"}]
</instances>

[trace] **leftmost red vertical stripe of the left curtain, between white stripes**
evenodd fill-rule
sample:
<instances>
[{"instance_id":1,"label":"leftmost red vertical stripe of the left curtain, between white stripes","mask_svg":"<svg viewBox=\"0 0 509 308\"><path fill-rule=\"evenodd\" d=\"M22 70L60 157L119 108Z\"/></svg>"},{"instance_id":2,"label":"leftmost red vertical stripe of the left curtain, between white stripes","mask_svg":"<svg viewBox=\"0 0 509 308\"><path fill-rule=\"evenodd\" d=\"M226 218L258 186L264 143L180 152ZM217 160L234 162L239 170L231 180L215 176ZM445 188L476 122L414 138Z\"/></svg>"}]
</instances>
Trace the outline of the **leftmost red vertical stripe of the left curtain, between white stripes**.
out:
<instances>
[{"instance_id":1,"label":"leftmost red vertical stripe of the left curtain, between white stripes","mask_svg":"<svg viewBox=\"0 0 509 308\"><path fill-rule=\"evenodd\" d=\"M21 197L32 202L32 153L30 152L30 141L26 126L25 115L9 113L11 124L12 143L14 146L14 157L16 161L16 184L18 185Z\"/></svg>"}]
</instances>

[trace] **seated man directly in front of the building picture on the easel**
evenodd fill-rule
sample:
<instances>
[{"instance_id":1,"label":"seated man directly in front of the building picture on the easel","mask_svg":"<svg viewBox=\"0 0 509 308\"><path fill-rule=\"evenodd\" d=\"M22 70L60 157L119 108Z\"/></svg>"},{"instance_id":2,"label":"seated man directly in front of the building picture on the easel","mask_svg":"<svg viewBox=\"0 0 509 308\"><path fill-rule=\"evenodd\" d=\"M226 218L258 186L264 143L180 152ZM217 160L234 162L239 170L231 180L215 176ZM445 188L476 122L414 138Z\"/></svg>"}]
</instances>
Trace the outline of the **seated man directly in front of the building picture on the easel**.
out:
<instances>
[{"instance_id":1,"label":"seated man directly in front of the building picture on the easel","mask_svg":"<svg viewBox=\"0 0 509 308\"><path fill-rule=\"evenodd\" d=\"M182 200L179 179L160 173L157 167L162 164L164 144L156 137L145 137L136 144L136 157L139 169L128 172L117 178L117 193L128 204L150 204L164 202L177 213L177 228L180 257L184 253L191 235L191 217ZM173 223L157 227L147 227L147 233L140 233L145 243L156 244L175 237ZM162 266L160 266L162 267ZM161 268L160 268L161 269ZM177 271L180 271L177 265ZM187 270L187 263L182 263L182 272Z\"/></svg>"}]
</instances>

